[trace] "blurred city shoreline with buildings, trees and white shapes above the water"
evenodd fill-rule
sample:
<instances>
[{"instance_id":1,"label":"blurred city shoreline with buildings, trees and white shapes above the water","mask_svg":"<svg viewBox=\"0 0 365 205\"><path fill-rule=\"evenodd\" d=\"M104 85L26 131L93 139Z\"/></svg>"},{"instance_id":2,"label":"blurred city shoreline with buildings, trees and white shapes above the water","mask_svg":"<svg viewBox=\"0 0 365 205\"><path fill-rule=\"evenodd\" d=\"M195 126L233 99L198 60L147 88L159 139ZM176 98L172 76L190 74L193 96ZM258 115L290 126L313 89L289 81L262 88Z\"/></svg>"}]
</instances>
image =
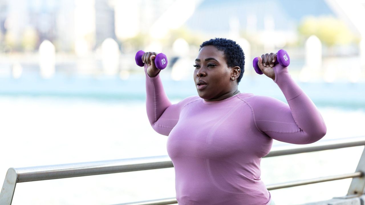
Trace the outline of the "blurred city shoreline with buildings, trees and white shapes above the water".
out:
<instances>
[{"instance_id":1,"label":"blurred city shoreline with buildings, trees and white shapes above the water","mask_svg":"<svg viewBox=\"0 0 365 205\"><path fill-rule=\"evenodd\" d=\"M357 19L364 2L0 0L0 76L58 72L126 80L140 73L134 55L145 50L165 53L171 78L184 80L199 45L222 37L243 48L246 75L255 56L285 49L300 81L360 82L365 32ZM352 69L345 78L344 66Z\"/></svg>"}]
</instances>

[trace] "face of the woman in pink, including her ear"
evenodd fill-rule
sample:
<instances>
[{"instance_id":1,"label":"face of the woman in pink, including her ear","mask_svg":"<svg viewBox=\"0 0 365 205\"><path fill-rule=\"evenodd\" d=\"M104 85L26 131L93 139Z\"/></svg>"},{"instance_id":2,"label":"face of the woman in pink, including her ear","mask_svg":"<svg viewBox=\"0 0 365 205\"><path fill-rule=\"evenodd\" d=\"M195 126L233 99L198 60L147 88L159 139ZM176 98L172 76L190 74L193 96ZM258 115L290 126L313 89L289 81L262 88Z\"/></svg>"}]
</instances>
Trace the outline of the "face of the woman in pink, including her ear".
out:
<instances>
[{"instance_id":1,"label":"face of the woman in pink, including her ear","mask_svg":"<svg viewBox=\"0 0 365 205\"><path fill-rule=\"evenodd\" d=\"M223 100L221 96L237 89L231 81L232 68L227 66L224 52L215 46L204 46L195 60L194 81L198 94L205 100Z\"/></svg>"}]
</instances>

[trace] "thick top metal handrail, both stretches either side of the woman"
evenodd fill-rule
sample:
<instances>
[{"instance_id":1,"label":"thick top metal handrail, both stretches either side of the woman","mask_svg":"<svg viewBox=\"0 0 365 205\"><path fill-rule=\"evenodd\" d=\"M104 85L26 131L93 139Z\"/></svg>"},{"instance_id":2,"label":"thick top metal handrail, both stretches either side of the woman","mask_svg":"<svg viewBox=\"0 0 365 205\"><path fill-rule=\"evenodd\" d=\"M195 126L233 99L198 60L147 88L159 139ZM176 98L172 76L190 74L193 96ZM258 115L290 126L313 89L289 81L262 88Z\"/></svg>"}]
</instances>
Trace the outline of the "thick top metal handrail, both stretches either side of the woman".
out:
<instances>
[{"instance_id":1,"label":"thick top metal handrail, both stretches either side of the woman","mask_svg":"<svg viewBox=\"0 0 365 205\"><path fill-rule=\"evenodd\" d=\"M321 144L312 144L306 147L282 146L274 147L266 157L303 152L329 150L343 147L365 145L365 137L327 140ZM150 169L162 169L173 167L169 156L151 156L133 159L118 159L99 162L83 162L65 165L50 165L39 167L16 168L18 181L30 182L49 179L62 179L70 177L82 177L99 174L122 173L128 171L140 171Z\"/></svg>"}]
</instances>

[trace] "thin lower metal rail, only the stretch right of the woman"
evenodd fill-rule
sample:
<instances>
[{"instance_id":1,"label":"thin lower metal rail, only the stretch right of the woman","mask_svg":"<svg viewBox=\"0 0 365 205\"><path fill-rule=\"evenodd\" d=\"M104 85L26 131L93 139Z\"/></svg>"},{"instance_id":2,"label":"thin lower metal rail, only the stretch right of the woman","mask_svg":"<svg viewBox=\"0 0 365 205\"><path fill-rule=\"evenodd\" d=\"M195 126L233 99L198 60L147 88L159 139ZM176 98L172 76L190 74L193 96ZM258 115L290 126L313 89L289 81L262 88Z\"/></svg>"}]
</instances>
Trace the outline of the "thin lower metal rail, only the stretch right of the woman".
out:
<instances>
[{"instance_id":1,"label":"thin lower metal rail, only the stretch right of the woman","mask_svg":"<svg viewBox=\"0 0 365 205\"><path fill-rule=\"evenodd\" d=\"M320 177L315 179L306 179L301 181L295 181L295 182L286 182L286 183L279 183L274 185L268 185L266 188L268 190L274 190L274 189L283 189L293 186L301 186L301 185L307 185L312 183L320 183L320 182L328 182L328 181L334 181L339 179L347 179L347 178L354 178L354 177L362 177L362 172L355 172L350 174L340 174L340 175L334 175L329 177Z\"/></svg>"}]
</instances>

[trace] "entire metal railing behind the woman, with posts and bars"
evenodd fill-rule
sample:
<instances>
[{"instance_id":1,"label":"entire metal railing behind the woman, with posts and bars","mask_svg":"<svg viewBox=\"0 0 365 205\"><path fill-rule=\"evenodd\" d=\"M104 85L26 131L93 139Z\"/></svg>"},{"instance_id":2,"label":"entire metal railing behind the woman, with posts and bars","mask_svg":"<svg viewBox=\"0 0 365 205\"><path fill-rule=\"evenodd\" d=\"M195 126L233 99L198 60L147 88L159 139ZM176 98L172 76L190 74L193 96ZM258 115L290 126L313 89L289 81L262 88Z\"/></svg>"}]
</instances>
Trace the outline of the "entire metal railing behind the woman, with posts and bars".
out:
<instances>
[{"instance_id":1,"label":"entire metal railing behind the woman, with posts and bars","mask_svg":"<svg viewBox=\"0 0 365 205\"><path fill-rule=\"evenodd\" d=\"M365 145L365 136L357 138L344 138L327 140L305 146L282 146L273 147L272 151L265 157L283 156L331 150L345 147ZM50 165L38 167L9 168L5 176L3 188L0 193L0 205L11 205L14 196L16 183L42 181L49 179L62 179L71 177L83 177L90 175L122 173L130 171L141 171L151 169L163 169L173 167L169 156L152 156L133 159L118 159L99 162L83 162L64 165ZM307 185L312 183L333 181L338 179L353 178L347 195L360 195L364 192L365 186L365 149L362 152L360 161L355 173L347 173L335 176L326 176L315 179L307 179L295 182L286 182L275 185L267 185L268 190L282 189L286 187ZM177 204L176 198L165 198L151 201L125 203L120 205L166 205Z\"/></svg>"}]
</instances>

